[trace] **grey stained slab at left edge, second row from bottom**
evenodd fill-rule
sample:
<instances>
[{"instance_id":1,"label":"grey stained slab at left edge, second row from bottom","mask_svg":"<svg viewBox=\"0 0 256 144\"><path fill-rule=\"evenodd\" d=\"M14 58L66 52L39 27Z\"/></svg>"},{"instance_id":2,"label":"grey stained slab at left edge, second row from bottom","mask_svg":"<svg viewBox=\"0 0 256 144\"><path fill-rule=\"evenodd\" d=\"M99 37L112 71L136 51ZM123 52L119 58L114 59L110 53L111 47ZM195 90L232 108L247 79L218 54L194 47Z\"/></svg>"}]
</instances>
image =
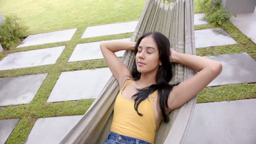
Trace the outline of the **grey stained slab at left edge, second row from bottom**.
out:
<instances>
[{"instance_id":1,"label":"grey stained slab at left edge, second row from bottom","mask_svg":"<svg viewBox=\"0 0 256 144\"><path fill-rule=\"evenodd\" d=\"M48 74L0 79L0 106L28 104Z\"/></svg>"}]
</instances>

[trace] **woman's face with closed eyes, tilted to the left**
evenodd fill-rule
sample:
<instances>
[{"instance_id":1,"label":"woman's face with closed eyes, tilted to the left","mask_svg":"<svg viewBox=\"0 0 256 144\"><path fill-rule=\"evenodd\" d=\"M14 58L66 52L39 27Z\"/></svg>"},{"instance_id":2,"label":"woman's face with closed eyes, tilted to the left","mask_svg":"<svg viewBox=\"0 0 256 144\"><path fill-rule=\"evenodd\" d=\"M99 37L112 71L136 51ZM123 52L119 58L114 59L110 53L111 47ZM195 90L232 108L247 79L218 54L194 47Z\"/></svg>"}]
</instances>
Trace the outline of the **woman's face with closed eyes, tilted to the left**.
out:
<instances>
[{"instance_id":1,"label":"woman's face with closed eyes, tilted to the left","mask_svg":"<svg viewBox=\"0 0 256 144\"><path fill-rule=\"evenodd\" d=\"M161 62L159 60L158 46L152 35L141 40L136 54L136 66L139 73L150 73L158 70Z\"/></svg>"}]
</instances>

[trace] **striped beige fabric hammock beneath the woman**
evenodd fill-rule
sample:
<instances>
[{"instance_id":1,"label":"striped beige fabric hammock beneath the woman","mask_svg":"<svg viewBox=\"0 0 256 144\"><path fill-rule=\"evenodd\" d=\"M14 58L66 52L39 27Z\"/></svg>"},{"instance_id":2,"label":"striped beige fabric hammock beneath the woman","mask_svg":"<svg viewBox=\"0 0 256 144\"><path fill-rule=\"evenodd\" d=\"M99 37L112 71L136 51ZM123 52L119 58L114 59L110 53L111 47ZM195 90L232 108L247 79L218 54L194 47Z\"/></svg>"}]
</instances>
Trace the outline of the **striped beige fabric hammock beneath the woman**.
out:
<instances>
[{"instance_id":1,"label":"striped beige fabric hammock beneath the woman","mask_svg":"<svg viewBox=\"0 0 256 144\"><path fill-rule=\"evenodd\" d=\"M150 31L164 34L174 50L195 55L193 0L148 0L131 40L136 41L143 33ZM126 51L122 58L129 69L134 60L132 51ZM194 70L181 64L174 64L173 79L170 83L184 81L194 74ZM112 123L114 102L118 92L118 82L112 76L82 119L60 143L104 143ZM170 122L162 122L156 131L156 144L184 142L196 98L197 96L168 114Z\"/></svg>"}]
</instances>

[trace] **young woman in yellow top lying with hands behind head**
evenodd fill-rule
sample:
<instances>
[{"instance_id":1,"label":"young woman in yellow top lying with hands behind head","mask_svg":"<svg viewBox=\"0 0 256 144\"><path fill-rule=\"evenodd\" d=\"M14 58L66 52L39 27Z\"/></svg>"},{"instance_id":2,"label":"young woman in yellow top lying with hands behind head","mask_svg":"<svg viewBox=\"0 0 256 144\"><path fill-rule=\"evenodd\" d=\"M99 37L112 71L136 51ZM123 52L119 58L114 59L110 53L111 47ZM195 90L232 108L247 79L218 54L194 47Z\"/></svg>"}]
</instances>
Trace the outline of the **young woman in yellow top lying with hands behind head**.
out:
<instances>
[{"instance_id":1,"label":"young woman in yellow top lying with hands behind head","mask_svg":"<svg viewBox=\"0 0 256 144\"><path fill-rule=\"evenodd\" d=\"M133 50L136 58L129 70L114 52ZM222 64L200 56L170 49L161 33L143 34L137 43L102 41L102 54L119 83L114 117L105 144L154 143L155 131L167 113L185 104L222 71ZM178 85L169 85L172 63L181 63L198 71Z\"/></svg>"}]
</instances>

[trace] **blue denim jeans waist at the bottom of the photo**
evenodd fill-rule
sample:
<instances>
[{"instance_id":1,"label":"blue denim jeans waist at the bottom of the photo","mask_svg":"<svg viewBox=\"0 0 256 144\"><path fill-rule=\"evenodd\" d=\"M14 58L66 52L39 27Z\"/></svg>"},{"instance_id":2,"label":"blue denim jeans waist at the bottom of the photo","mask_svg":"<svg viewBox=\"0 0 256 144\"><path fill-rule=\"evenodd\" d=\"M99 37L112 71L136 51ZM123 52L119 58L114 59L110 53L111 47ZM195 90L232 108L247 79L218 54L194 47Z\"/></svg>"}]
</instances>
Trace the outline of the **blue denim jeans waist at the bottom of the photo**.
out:
<instances>
[{"instance_id":1,"label":"blue denim jeans waist at the bottom of the photo","mask_svg":"<svg viewBox=\"0 0 256 144\"><path fill-rule=\"evenodd\" d=\"M104 144L152 144L150 142L136 139L134 137L119 135L114 132L109 132Z\"/></svg>"}]
</instances>

